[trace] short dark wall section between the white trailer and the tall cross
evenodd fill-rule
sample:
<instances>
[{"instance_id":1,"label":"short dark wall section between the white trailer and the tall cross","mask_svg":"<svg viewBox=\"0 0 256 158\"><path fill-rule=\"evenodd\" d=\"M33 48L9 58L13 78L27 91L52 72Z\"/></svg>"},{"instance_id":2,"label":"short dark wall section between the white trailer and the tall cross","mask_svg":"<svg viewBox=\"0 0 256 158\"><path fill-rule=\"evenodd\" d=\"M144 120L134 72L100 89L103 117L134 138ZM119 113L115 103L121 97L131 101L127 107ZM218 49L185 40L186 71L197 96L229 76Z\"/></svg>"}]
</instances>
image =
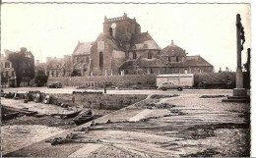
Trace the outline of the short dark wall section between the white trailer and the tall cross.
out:
<instances>
[{"instance_id":1,"label":"short dark wall section between the white trailer and the tall cross","mask_svg":"<svg viewBox=\"0 0 256 158\"><path fill-rule=\"evenodd\" d=\"M202 73L194 75L194 84L197 86L199 82L209 81L209 82L218 82L222 79L228 79L235 81L234 72L224 72L224 73Z\"/></svg>"}]
</instances>

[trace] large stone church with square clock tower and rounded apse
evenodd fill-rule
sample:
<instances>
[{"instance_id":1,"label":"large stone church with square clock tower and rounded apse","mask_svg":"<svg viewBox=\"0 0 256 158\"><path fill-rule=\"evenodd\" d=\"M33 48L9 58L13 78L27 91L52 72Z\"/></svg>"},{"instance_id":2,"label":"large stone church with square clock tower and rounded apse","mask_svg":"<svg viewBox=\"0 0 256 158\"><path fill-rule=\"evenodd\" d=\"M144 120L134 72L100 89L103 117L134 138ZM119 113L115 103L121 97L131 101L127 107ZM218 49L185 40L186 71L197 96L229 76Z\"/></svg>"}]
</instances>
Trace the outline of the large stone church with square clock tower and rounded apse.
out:
<instances>
[{"instance_id":1,"label":"large stone church with square clock tower and rounded apse","mask_svg":"<svg viewBox=\"0 0 256 158\"><path fill-rule=\"evenodd\" d=\"M150 33L141 32L136 19L104 18L96 41L78 43L72 54L73 70L81 76L213 73L201 56L187 56L173 40L161 49Z\"/></svg>"}]
</instances>

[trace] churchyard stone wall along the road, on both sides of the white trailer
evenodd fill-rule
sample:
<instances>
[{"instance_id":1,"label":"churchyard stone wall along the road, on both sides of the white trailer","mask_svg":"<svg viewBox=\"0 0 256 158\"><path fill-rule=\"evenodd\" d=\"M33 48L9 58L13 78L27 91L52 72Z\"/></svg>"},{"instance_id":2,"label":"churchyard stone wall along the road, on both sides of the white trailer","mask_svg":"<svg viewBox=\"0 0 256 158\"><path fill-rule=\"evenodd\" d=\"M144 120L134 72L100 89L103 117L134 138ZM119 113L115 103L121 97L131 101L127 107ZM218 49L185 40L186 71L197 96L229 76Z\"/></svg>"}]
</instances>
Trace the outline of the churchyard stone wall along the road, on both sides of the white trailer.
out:
<instances>
[{"instance_id":1,"label":"churchyard stone wall along the road, on both sides of the white trailer","mask_svg":"<svg viewBox=\"0 0 256 158\"><path fill-rule=\"evenodd\" d=\"M202 81L218 82L225 79L235 81L235 72L195 74L194 86L197 86ZM112 86L117 87L156 88L157 75L49 78L47 84L54 81L61 81L64 86L103 87L103 82L110 82Z\"/></svg>"}]
</instances>

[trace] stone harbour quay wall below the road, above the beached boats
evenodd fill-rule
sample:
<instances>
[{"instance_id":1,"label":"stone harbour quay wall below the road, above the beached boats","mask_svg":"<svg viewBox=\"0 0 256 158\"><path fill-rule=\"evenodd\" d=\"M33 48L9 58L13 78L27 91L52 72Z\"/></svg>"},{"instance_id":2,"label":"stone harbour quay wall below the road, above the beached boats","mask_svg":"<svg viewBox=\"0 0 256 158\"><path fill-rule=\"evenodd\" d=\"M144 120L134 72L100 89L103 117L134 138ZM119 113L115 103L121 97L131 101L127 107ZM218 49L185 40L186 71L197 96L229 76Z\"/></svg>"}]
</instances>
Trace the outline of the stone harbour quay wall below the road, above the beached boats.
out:
<instances>
[{"instance_id":1,"label":"stone harbour quay wall below the road, above the beached boats","mask_svg":"<svg viewBox=\"0 0 256 158\"><path fill-rule=\"evenodd\" d=\"M25 98L25 93L19 93ZM21 96L20 95L20 96ZM35 94L32 94L35 96ZM144 100L147 94L47 94L41 93L40 101L50 95L50 104L57 102L91 109L118 110Z\"/></svg>"}]
</instances>

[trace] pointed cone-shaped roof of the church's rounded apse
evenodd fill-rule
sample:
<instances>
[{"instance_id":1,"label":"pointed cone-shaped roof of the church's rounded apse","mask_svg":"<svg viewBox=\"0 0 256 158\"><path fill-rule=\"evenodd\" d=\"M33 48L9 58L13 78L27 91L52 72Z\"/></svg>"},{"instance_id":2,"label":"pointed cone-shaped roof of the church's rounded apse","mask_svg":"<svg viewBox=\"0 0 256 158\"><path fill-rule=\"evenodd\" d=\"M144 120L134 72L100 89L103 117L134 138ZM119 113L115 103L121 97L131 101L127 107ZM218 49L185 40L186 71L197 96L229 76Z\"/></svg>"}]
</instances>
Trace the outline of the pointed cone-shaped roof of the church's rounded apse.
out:
<instances>
[{"instance_id":1,"label":"pointed cone-shaped roof of the church's rounded apse","mask_svg":"<svg viewBox=\"0 0 256 158\"><path fill-rule=\"evenodd\" d=\"M160 55L184 57L186 56L186 52L179 46L175 45L173 40L171 40L171 43L160 51Z\"/></svg>"}]
</instances>

